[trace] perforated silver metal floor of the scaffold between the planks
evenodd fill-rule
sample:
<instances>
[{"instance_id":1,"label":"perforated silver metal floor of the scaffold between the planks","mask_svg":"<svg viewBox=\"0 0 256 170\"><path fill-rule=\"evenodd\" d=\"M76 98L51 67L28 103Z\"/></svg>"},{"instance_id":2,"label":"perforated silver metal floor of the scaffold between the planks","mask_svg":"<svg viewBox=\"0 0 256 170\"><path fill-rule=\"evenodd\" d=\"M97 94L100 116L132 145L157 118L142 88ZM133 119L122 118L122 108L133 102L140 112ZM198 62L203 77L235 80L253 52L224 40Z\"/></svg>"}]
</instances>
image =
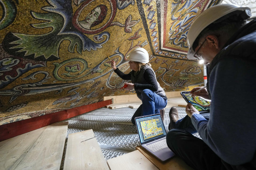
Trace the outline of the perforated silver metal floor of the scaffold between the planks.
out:
<instances>
[{"instance_id":1,"label":"perforated silver metal floor of the scaffold between the planks","mask_svg":"<svg viewBox=\"0 0 256 170\"><path fill-rule=\"evenodd\" d=\"M187 115L185 108L177 108L179 118ZM131 124L131 117L135 111L136 109L129 107L119 109L99 108L68 120L69 127L61 169L63 169L65 160L67 138L71 133L93 129L106 160L134 151L135 147L140 145L136 126ZM164 125L166 131L168 131L168 125L170 123L169 111L170 108L165 109ZM199 137L198 133L194 135Z\"/></svg>"}]
</instances>

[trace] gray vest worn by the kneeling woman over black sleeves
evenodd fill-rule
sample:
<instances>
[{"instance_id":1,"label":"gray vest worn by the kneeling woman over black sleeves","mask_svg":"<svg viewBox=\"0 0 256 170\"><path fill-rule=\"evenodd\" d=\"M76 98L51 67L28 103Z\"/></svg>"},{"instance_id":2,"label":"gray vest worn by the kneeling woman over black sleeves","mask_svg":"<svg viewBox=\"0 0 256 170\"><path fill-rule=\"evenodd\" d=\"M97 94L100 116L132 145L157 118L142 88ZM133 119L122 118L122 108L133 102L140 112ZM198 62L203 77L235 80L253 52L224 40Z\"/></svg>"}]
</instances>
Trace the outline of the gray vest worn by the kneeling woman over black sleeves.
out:
<instances>
[{"instance_id":1,"label":"gray vest worn by the kneeling woman over black sleeves","mask_svg":"<svg viewBox=\"0 0 256 170\"><path fill-rule=\"evenodd\" d=\"M149 65L145 65L141 68L141 71L139 71L139 73L137 75L134 76L134 72L135 71L131 71L130 74L131 74L131 82L134 84L134 83L139 83L139 84L149 84L143 77L144 75L144 72L146 71L146 69L150 69L153 71L154 75L155 75L155 72L154 70L149 66ZM155 78L156 79L156 78ZM161 97L164 97L166 96L165 94L165 91L163 90L163 88L160 86L160 84L158 83L157 81L157 85L158 85L158 90L155 91L156 94L158 94L159 96ZM141 99L141 93L142 93L143 90L135 90L137 96L139 97L139 99Z\"/></svg>"}]
</instances>

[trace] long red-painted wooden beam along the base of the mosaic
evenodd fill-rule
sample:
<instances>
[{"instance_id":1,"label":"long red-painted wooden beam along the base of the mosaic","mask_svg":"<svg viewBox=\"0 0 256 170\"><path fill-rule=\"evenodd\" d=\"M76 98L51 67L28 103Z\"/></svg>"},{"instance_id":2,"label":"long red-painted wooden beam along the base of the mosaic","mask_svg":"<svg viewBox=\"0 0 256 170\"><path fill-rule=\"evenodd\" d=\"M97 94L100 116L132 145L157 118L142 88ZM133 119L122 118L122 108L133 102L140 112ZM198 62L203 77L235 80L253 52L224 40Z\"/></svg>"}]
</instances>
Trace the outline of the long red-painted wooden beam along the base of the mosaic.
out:
<instances>
[{"instance_id":1,"label":"long red-painted wooden beam along the base of the mosaic","mask_svg":"<svg viewBox=\"0 0 256 170\"><path fill-rule=\"evenodd\" d=\"M46 114L39 117L25 119L0 126L0 141L18 136L29 131L42 128L44 126L66 120L68 118L78 116L80 114L93 111L112 103L112 100L101 101L85 106L67 109L60 112Z\"/></svg>"}]
</instances>

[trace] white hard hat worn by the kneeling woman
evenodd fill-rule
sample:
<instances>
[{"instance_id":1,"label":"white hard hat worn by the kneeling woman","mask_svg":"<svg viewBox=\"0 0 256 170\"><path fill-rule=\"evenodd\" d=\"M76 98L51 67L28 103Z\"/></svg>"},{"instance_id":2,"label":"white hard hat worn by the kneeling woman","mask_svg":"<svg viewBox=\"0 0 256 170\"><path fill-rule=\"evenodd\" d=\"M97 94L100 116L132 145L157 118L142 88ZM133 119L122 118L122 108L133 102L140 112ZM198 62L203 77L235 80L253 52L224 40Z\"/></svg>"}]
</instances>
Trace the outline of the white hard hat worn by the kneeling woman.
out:
<instances>
[{"instance_id":1,"label":"white hard hat worn by the kneeling woman","mask_svg":"<svg viewBox=\"0 0 256 170\"><path fill-rule=\"evenodd\" d=\"M127 56L127 60L148 63L149 53L144 48L138 47L131 51L130 56Z\"/></svg>"}]
</instances>

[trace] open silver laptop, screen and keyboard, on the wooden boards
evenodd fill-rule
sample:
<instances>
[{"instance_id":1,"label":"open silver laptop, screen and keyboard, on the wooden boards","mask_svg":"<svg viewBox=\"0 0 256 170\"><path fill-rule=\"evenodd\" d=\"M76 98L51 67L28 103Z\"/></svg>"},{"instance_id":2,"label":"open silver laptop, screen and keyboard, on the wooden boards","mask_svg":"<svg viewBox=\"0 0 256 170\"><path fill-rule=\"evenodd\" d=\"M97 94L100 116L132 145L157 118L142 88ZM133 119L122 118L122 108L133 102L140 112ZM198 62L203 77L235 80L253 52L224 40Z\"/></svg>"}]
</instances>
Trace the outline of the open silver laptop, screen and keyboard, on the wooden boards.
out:
<instances>
[{"instance_id":1,"label":"open silver laptop, screen and keyboard, on the wooden boards","mask_svg":"<svg viewBox=\"0 0 256 170\"><path fill-rule=\"evenodd\" d=\"M159 113L135 117L135 123L143 148L161 161L175 155L166 144L165 126Z\"/></svg>"}]
</instances>

